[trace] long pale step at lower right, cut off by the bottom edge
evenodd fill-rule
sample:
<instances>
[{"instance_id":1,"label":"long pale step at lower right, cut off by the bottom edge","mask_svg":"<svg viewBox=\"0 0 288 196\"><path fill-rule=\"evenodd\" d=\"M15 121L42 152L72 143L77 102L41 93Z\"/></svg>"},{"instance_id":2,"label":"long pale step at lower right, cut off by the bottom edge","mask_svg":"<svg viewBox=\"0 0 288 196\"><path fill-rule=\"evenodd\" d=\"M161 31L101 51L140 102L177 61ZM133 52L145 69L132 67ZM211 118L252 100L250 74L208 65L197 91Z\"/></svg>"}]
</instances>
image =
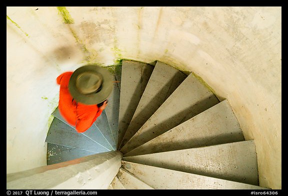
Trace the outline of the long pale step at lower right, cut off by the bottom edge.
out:
<instances>
[{"instance_id":1,"label":"long pale step at lower right, cut off by the bottom edge","mask_svg":"<svg viewBox=\"0 0 288 196\"><path fill-rule=\"evenodd\" d=\"M122 161L122 168L154 189L259 190L259 186Z\"/></svg>"}]
</instances>

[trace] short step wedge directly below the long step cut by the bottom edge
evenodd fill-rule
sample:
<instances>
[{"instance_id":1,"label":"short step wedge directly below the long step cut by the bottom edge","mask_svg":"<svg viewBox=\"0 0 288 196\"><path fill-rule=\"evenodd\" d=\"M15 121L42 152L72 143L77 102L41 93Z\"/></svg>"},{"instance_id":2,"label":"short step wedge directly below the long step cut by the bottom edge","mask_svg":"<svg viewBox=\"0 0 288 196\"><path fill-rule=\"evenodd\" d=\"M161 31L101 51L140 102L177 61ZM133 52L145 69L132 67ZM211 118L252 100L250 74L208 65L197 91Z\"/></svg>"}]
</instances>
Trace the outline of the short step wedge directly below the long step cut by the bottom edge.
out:
<instances>
[{"instance_id":1,"label":"short step wedge directly below the long step cut by the bottom edge","mask_svg":"<svg viewBox=\"0 0 288 196\"><path fill-rule=\"evenodd\" d=\"M116 177L119 179L121 184L124 186L125 189L128 190L153 190L152 187L149 185L143 183L136 177L134 177L132 174L130 174L128 171L126 171L123 168L119 168L119 172L116 175Z\"/></svg>"}]
</instances>

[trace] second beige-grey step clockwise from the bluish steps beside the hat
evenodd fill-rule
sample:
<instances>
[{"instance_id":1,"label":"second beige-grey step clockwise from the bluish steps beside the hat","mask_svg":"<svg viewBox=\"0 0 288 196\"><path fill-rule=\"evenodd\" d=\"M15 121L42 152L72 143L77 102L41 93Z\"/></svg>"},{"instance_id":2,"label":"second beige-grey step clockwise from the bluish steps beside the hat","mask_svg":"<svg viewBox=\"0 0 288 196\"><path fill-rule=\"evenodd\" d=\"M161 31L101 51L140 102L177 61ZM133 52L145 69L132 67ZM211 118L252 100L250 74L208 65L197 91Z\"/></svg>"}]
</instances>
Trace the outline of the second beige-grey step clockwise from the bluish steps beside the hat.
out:
<instances>
[{"instance_id":1,"label":"second beige-grey step clockwise from the bluish steps beside the hat","mask_svg":"<svg viewBox=\"0 0 288 196\"><path fill-rule=\"evenodd\" d=\"M187 75L170 65L160 61L156 62L120 148L141 128L186 77Z\"/></svg>"}]
</instances>

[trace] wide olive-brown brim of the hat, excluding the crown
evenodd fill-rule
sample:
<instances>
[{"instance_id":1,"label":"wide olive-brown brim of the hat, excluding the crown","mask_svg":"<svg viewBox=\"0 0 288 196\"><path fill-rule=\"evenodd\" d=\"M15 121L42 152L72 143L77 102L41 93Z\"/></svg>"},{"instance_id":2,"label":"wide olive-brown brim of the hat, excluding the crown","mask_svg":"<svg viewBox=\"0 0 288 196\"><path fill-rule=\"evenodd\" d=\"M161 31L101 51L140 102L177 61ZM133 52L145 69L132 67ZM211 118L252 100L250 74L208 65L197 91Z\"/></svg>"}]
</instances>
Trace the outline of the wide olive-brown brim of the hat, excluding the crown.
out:
<instances>
[{"instance_id":1,"label":"wide olive-brown brim of the hat, excluding the crown","mask_svg":"<svg viewBox=\"0 0 288 196\"><path fill-rule=\"evenodd\" d=\"M79 74L86 72L86 71L92 71L97 72L102 75L103 82L102 82L102 88L97 93L92 93L88 95L81 94L77 88L76 88L76 78ZM76 69L69 80L68 89L71 94L71 96L80 103L86 104L86 105L94 105L103 102L108 98L110 93L112 92L113 88L113 81L110 73L104 69L103 67L97 66L97 65L85 65L82 67L79 67Z\"/></svg>"}]
</instances>

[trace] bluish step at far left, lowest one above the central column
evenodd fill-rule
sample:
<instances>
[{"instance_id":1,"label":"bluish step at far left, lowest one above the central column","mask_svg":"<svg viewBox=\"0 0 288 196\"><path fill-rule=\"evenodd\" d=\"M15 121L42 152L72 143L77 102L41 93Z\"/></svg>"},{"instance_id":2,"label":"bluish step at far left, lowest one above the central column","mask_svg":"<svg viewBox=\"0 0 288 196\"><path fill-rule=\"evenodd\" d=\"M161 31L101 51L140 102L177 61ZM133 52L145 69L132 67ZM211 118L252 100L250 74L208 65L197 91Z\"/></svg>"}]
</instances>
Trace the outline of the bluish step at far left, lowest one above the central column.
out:
<instances>
[{"instance_id":1,"label":"bluish step at far left, lowest one above the central column","mask_svg":"<svg viewBox=\"0 0 288 196\"><path fill-rule=\"evenodd\" d=\"M94 152L84 151L76 148L61 146L58 144L47 144L47 165L57 164L81 157L94 155Z\"/></svg>"}]
</instances>

